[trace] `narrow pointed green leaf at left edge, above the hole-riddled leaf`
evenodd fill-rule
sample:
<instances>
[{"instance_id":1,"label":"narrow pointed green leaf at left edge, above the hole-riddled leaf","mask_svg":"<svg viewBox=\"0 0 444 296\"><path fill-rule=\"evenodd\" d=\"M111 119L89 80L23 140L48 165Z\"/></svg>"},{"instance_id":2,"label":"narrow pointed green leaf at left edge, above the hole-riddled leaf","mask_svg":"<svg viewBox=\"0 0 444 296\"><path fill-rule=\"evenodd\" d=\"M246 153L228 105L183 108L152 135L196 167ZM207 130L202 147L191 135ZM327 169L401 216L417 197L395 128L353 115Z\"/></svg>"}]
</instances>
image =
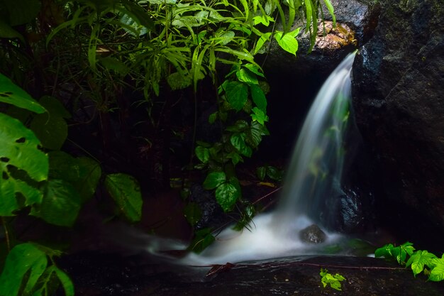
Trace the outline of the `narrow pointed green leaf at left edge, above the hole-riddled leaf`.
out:
<instances>
[{"instance_id":1,"label":"narrow pointed green leaf at left edge, above the hole-riddled leaf","mask_svg":"<svg viewBox=\"0 0 444 296\"><path fill-rule=\"evenodd\" d=\"M38 104L35 99L6 76L0 74L0 102L12 104L22 109L27 109L35 113L45 112L45 108Z\"/></svg>"}]
</instances>

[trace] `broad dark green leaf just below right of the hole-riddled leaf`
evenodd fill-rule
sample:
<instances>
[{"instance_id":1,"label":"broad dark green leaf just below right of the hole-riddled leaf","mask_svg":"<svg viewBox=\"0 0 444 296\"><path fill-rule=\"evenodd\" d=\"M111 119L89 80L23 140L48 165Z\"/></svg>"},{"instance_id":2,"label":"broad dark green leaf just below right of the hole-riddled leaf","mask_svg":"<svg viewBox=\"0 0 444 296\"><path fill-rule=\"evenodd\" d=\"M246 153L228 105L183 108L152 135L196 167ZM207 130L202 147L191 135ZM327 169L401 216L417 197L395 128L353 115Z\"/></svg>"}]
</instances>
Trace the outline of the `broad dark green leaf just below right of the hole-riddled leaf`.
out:
<instances>
[{"instance_id":1,"label":"broad dark green leaf just below right of the hole-riddled leaf","mask_svg":"<svg viewBox=\"0 0 444 296\"><path fill-rule=\"evenodd\" d=\"M77 219L82 199L79 192L65 180L49 180L45 196L30 214L57 226L72 226Z\"/></svg>"}]
</instances>

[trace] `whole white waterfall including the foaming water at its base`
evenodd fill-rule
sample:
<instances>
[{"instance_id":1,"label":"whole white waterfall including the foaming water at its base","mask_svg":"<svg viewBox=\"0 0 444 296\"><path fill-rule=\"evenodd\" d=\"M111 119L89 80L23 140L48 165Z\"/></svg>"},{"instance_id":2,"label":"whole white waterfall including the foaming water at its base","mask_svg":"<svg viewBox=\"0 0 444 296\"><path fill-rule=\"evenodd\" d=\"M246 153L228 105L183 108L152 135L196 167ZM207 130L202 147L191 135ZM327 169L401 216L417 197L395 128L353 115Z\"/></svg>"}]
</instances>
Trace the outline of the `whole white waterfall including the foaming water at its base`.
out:
<instances>
[{"instance_id":1,"label":"whole white waterfall including the foaming water at its base","mask_svg":"<svg viewBox=\"0 0 444 296\"><path fill-rule=\"evenodd\" d=\"M328 221L320 210L325 199L340 192L343 168L343 131L350 101L350 71L355 53L348 55L328 77L313 102L301 129L279 207L255 216L250 230L227 228L201 254L182 259L188 265L252 261L284 256L318 254L340 240L328 233L323 243L304 243L299 231ZM322 215L322 216L321 216Z\"/></svg>"}]
</instances>

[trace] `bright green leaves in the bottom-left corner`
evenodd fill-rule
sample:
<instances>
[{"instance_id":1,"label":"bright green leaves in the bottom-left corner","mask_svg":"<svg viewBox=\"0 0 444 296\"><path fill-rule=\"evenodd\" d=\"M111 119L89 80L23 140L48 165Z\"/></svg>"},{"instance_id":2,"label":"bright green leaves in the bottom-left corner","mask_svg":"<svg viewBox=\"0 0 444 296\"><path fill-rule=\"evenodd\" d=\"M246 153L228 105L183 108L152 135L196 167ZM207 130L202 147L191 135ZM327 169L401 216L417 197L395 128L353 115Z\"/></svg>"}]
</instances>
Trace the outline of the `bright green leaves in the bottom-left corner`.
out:
<instances>
[{"instance_id":1,"label":"bright green leaves in the bottom-left corner","mask_svg":"<svg viewBox=\"0 0 444 296\"><path fill-rule=\"evenodd\" d=\"M53 295L60 284L65 295L74 295L72 281L53 261L54 256L60 255L60 251L36 243L15 246L0 275L0 295Z\"/></svg>"}]
</instances>

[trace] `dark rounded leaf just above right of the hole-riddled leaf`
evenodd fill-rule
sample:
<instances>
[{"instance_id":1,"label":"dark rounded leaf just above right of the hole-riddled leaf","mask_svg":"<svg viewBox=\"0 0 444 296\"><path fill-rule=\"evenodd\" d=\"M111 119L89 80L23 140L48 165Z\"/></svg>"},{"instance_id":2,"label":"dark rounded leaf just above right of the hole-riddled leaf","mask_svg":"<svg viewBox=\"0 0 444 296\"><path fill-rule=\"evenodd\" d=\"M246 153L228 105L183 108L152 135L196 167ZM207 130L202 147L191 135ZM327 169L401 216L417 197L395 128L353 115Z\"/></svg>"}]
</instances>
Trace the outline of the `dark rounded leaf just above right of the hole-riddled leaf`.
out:
<instances>
[{"instance_id":1,"label":"dark rounded leaf just above right of the hole-riddled leaf","mask_svg":"<svg viewBox=\"0 0 444 296\"><path fill-rule=\"evenodd\" d=\"M51 150L60 150L68 136L68 125L60 116L38 114L30 123L30 129L42 145Z\"/></svg>"}]
</instances>

